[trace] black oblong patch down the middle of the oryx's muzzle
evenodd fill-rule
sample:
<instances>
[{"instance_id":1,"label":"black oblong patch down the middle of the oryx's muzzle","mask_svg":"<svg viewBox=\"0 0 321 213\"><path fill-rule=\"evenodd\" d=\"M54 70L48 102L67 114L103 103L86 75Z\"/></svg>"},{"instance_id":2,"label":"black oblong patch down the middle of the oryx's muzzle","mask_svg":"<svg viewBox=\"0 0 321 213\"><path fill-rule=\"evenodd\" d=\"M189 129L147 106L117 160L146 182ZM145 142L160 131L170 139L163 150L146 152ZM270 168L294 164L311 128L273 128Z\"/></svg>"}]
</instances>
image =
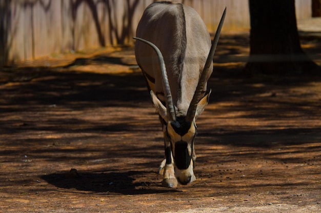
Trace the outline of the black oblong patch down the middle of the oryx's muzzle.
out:
<instances>
[{"instance_id":1,"label":"black oblong patch down the middle of the oryx's muzzle","mask_svg":"<svg viewBox=\"0 0 321 213\"><path fill-rule=\"evenodd\" d=\"M175 165L178 169L187 169L191 163L191 155L188 153L187 142L175 143ZM193 147L192 147L193 150Z\"/></svg>"}]
</instances>

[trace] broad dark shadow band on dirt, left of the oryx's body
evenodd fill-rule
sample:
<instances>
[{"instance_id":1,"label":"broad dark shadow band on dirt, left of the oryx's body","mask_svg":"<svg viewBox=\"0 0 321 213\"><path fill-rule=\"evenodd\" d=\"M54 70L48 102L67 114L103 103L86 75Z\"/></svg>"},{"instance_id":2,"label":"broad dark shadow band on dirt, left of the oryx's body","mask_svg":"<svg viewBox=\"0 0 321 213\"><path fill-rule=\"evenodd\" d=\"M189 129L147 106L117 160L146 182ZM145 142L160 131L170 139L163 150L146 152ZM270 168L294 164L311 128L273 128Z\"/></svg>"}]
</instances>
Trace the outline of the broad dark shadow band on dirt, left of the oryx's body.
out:
<instances>
[{"instance_id":1,"label":"broad dark shadow band on dirt, left of the oryx's body","mask_svg":"<svg viewBox=\"0 0 321 213\"><path fill-rule=\"evenodd\" d=\"M77 109L117 105L133 107L137 102L149 100L143 75L139 72L98 74L45 69L32 73L25 70L17 73L9 84L0 90L2 96L7 97L2 100L1 112L53 104Z\"/></svg>"}]
</instances>

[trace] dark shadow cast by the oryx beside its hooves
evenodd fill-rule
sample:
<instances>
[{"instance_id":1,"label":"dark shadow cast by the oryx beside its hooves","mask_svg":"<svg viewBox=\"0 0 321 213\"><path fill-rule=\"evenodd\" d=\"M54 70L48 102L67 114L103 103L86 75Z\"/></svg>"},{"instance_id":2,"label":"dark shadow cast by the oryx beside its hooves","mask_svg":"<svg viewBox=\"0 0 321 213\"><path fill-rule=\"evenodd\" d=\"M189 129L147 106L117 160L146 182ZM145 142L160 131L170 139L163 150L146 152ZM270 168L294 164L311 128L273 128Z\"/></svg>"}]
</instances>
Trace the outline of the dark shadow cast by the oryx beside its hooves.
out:
<instances>
[{"instance_id":1,"label":"dark shadow cast by the oryx beside its hooves","mask_svg":"<svg viewBox=\"0 0 321 213\"><path fill-rule=\"evenodd\" d=\"M93 193L123 195L140 195L149 193L177 192L176 189L163 188L155 180L137 181L135 177L147 176L147 172L127 171L127 172L77 172L51 173L43 175L41 178L47 183L58 188L76 189Z\"/></svg>"}]
</instances>

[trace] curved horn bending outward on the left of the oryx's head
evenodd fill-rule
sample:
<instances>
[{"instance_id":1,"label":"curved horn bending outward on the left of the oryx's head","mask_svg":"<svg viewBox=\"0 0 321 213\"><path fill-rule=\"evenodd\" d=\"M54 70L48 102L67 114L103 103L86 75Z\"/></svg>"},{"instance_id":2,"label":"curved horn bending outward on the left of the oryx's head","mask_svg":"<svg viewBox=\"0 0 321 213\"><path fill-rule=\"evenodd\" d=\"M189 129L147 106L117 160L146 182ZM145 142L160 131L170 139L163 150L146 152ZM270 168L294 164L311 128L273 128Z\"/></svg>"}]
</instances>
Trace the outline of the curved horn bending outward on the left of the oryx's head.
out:
<instances>
[{"instance_id":1,"label":"curved horn bending outward on the left of the oryx's head","mask_svg":"<svg viewBox=\"0 0 321 213\"><path fill-rule=\"evenodd\" d=\"M168 116L169 121L176 121L175 107L173 104L172 93L171 93L171 89L169 87L168 76L167 76L164 57L163 57L162 52L160 52L160 50L158 49L158 47L156 47L156 45L154 45L153 43L151 43L143 38L139 38L139 37L133 37L133 38L148 44L157 53L159 64L160 64L160 71L161 71L160 73L162 74L162 79L163 79L167 116Z\"/></svg>"}]
</instances>

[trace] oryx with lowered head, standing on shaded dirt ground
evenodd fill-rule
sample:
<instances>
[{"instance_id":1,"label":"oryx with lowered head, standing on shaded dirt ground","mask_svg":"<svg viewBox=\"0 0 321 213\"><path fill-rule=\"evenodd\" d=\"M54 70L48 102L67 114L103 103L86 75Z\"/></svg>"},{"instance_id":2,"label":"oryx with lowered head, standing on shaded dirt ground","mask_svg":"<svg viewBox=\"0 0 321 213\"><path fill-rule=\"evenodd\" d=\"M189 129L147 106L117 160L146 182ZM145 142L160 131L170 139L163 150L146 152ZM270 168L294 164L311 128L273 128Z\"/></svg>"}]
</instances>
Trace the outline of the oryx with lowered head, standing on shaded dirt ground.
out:
<instances>
[{"instance_id":1,"label":"oryx with lowered head, standing on shaded dirt ground","mask_svg":"<svg viewBox=\"0 0 321 213\"><path fill-rule=\"evenodd\" d=\"M182 4L153 3L138 23L135 56L163 124L166 159L159 173L165 187L196 180L195 121L209 100L207 81L225 13L212 45L202 18Z\"/></svg>"}]
</instances>

